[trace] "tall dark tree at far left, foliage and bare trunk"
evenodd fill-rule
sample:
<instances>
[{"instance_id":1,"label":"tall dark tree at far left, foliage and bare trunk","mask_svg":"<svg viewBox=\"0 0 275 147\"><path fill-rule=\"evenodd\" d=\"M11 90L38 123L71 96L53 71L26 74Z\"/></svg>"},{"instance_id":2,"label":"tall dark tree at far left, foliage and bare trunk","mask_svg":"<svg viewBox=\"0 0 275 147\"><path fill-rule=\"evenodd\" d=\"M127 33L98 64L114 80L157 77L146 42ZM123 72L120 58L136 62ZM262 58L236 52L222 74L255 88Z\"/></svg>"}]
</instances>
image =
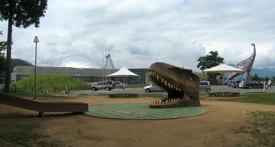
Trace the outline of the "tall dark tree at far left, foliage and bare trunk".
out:
<instances>
[{"instance_id":1,"label":"tall dark tree at far left, foliage and bare trunk","mask_svg":"<svg viewBox=\"0 0 275 147\"><path fill-rule=\"evenodd\" d=\"M1 21L8 20L5 93L10 93L12 26L26 28L34 24L35 27L39 27L40 17L45 16L46 9L47 0L0 1L0 19Z\"/></svg>"}]
</instances>

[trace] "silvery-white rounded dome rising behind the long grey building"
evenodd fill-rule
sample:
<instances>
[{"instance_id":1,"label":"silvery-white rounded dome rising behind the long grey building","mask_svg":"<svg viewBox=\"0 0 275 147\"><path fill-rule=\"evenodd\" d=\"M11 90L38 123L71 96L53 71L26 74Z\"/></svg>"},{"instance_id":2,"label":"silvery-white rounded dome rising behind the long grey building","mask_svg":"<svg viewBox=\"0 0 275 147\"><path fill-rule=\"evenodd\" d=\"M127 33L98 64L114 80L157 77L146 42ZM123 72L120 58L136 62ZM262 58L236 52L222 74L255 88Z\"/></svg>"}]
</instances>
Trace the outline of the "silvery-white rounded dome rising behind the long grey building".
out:
<instances>
[{"instance_id":1,"label":"silvery-white rounded dome rising behind the long grey building","mask_svg":"<svg viewBox=\"0 0 275 147\"><path fill-rule=\"evenodd\" d=\"M62 58L56 67L72 67L72 68L91 68L91 69L102 69L100 64L93 60L92 57L76 54Z\"/></svg>"}]
</instances>

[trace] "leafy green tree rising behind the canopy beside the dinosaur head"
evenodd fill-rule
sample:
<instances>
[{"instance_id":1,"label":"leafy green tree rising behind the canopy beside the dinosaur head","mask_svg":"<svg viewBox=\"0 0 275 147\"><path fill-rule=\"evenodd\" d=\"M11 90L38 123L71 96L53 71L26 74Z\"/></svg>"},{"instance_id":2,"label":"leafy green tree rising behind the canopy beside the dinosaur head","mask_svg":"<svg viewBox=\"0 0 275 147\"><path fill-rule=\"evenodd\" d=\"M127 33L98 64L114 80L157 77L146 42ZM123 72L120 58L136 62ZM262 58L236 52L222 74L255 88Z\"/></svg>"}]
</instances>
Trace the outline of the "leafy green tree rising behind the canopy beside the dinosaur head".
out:
<instances>
[{"instance_id":1,"label":"leafy green tree rising behind the canopy beside the dinosaur head","mask_svg":"<svg viewBox=\"0 0 275 147\"><path fill-rule=\"evenodd\" d=\"M224 58L218 56L217 51L210 51L209 53L210 55L200 56L197 60L199 62L197 67L200 68L202 71L224 63ZM217 82L216 73L208 73L208 75L211 82Z\"/></svg>"}]
</instances>

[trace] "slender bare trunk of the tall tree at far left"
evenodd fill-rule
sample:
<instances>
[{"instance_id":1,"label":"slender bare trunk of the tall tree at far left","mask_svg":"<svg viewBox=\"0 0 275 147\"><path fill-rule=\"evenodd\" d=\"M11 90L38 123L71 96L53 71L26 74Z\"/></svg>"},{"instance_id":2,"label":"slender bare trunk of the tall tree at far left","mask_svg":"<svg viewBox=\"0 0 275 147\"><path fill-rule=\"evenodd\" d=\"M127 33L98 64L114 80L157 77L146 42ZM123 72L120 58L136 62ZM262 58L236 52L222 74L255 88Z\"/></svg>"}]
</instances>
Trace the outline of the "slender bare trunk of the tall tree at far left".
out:
<instances>
[{"instance_id":1,"label":"slender bare trunk of the tall tree at far left","mask_svg":"<svg viewBox=\"0 0 275 147\"><path fill-rule=\"evenodd\" d=\"M8 24L8 39L7 39L7 65L6 65L6 79L5 79L5 93L10 93L11 83L11 45L12 45L12 16L9 16Z\"/></svg>"}]
</instances>

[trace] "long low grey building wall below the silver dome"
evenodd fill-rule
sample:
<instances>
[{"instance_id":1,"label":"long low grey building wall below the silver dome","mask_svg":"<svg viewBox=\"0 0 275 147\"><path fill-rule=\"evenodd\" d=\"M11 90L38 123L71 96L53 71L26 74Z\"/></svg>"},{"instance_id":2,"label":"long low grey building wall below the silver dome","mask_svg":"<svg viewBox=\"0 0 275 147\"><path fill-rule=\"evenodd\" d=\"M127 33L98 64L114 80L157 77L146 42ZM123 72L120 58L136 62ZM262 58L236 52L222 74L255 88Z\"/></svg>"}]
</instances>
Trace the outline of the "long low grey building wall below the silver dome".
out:
<instances>
[{"instance_id":1,"label":"long low grey building wall below the silver dome","mask_svg":"<svg viewBox=\"0 0 275 147\"><path fill-rule=\"evenodd\" d=\"M13 73L11 76L11 80L18 81L22 78L32 76L35 74L34 72L34 66L16 66L13 69ZM102 69L86 69L82 68L81 70L79 68L67 68L67 67L36 67L36 74L63 74L67 76L71 76L77 79L80 78L82 81L85 82L98 82L101 80L114 80L114 81L121 81L123 82L123 77L108 77L107 75L113 74L117 71L118 69L107 69L104 71ZM148 69L129 69L129 71L140 75L141 79L140 81L143 83L148 82L148 75L147 71ZM77 75L76 75L77 74ZM78 76L78 74L80 74ZM146 78L147 75L147 78ZM139 77L127 77L128 81L139 81ZM125 78L126 81L126 78Z\"/></svg>"}]
</instances>

